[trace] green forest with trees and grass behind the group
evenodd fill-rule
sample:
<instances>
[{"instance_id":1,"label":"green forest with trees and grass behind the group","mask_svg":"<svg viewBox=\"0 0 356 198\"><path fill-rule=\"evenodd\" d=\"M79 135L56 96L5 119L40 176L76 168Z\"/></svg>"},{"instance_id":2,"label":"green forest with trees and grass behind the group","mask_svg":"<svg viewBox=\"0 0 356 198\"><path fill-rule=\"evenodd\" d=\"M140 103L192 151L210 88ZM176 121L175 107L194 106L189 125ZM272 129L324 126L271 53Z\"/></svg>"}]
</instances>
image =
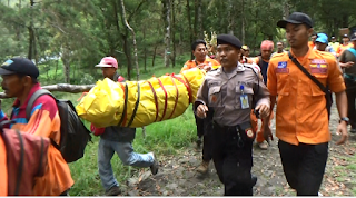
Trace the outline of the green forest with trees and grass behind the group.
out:
<instances>
[{"instance_id":1,"label":"green forest with trees and grass behind the group","mask_svg":"<svg viewBox=\"0 0 356 198\"><path fill-rule=\"evenodd\" d=\"M0 0L0 62L14 56L33 60L42 86L92 85L102 78L93 66L112 56L121 76L142 80L179 72L192 58L191 42L204 39L205 31L234 33L253 55L265 39L287 44L276 22L294 11L309 14L316 32L339 41L342 28L355 30L354 0ZM56 92L73 102L80 95ZM8 113L12 101L2 102ZM140 131L134 142L137 151L154 150L161 159L175 155L196 138L191 107L181 117L148 126L147 136ZM70 165L76 180L70 195L103 194L97 145L93 138L85 158ZM112 166L119 181L139 172L118 158Z\"/></svg>"}]
</instances>

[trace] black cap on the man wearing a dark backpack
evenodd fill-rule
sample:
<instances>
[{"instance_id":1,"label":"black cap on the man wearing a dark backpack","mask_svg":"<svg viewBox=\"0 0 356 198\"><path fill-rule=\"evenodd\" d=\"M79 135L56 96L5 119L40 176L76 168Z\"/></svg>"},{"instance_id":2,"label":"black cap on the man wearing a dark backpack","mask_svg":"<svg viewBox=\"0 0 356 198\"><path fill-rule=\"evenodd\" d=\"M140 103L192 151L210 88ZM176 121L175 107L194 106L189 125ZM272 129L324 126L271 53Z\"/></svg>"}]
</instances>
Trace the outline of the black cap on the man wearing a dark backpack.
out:
<instances>
[{"instance_id":1,"label":"black cap on the man wearing a dark backpack","mask_svg":"<svg viewBox=\"0 0 356 198\"><path fill-rule=\"evenodd\" d=\"M27 75L33 78L39 76L36 65L26 58L12 58L4 61L0 67L0 75Z\"/></svg>"}]
</instances>

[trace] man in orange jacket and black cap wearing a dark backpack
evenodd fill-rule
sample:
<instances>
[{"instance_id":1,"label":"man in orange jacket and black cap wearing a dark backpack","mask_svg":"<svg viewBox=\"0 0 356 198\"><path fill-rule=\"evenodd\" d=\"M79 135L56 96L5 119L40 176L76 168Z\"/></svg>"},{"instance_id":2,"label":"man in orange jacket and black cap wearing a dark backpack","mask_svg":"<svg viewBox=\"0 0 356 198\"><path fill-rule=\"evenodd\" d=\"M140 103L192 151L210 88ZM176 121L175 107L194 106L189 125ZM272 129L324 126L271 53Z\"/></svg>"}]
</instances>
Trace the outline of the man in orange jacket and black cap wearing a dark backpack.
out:
<instances>
[{"instance_id":1,"label":"man in orange jacket and black cap wearing a dark backpack","mask_svg":"<svg viewBox=\"0 0 356 198\"><path fill-rule=\"evenodd\" d=\"M0 111L0 121L14 120L11 129L18 129L34 136L50 138L57 145L60 142L60 118L55 99L48 95L39 97L31 110L30 119L26 119L26 107L34 91L42 89L38 82L39 70L26 58L12 58L0 67L1 87L9 98L16 98L11 117ZM69 166L60 151L50 145L48 149L48 169L44 176L36 179L33 195L60 196L68 195L75 184Z\"/></svg>"}]
</instances>

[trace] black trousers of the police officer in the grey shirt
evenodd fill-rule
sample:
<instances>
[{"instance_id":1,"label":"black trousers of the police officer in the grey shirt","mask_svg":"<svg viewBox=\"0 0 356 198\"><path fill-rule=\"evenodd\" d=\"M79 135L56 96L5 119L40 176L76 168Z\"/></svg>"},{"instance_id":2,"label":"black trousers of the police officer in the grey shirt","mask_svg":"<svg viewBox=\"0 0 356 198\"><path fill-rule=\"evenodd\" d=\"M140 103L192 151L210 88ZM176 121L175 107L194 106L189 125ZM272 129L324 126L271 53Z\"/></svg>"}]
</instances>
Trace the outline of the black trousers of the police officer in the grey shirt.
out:
<instances>
[{"instance_id":1,"label":"black trousers of the police officer in the grey shirt","mask_svg":"<svg viewBox=\"0 0 356 198\"><path fill-rule=\"evenodd\" d=\"M225 196L251 196L253 141L245 131L236 127L214 123L212 160Z\"/></svg>"}]
</instances>

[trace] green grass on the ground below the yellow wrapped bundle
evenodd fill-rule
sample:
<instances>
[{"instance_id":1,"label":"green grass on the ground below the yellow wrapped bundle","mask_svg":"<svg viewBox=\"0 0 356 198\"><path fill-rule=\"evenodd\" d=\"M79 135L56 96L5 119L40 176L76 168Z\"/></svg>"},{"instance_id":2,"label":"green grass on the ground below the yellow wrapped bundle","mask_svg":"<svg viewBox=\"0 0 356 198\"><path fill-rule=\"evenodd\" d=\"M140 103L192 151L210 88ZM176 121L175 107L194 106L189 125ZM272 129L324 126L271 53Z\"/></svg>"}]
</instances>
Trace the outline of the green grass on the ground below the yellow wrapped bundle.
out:
<instances>
[{"instance_id":1,"label":"green grass on the ground below the yellow wrapped bundle","mask_svg":"<svg viewBox=\"0 0 356 198\"><path fill-rule=\"evenodd\" d=\"M196 137L196 127L191 106L186 112L171 120L156 122L146 127L146 138L141 128L137 129L134 148L137 152L154 151L156 157L161 155L176 154L177 149L182 149ZM96 196L103 195L100 178L98 175L98 137L92 139L93 143L88 143L85 157L70 164L70 170L75 180L75 186L70 190L71 196ZM118 156L111 160L112 170L117 180L125 185L125 181L139 171L139 168L123 166Z\"/></svg>"}]
</instances>

